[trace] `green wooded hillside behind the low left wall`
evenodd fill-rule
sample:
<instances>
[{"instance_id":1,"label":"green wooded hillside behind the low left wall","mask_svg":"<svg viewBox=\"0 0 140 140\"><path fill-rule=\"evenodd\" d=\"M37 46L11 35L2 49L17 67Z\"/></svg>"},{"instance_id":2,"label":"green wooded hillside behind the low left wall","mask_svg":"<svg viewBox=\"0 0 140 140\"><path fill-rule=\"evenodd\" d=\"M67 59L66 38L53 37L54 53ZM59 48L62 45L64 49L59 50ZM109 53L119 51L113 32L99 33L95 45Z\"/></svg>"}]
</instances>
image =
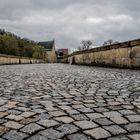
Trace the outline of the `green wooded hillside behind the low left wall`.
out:
<instances>
[{"instance_id":1,"label":"green wooded hillside behind the low left wall","mask_svg":"<svg viewBox=\"0 0 140 140\"><path fill-rule=\"evenodd\" d=\"M0 54L43 59L44 50L32 40L0 29Z\"/></svg>"}]
</instances>

